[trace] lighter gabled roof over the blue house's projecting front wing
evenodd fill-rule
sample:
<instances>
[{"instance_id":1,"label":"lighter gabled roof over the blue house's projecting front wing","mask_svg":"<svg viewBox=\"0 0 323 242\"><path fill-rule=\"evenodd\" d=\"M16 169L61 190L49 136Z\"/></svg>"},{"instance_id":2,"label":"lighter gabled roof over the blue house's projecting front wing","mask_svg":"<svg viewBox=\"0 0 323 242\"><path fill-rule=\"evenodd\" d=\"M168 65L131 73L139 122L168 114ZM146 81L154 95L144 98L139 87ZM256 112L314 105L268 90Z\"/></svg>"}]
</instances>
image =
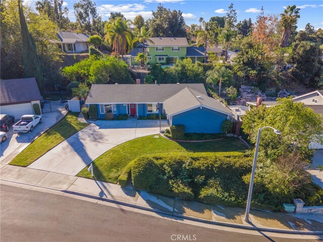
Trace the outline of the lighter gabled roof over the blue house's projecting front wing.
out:
<instances>
[{"instance_id":1,"label":"lighter gabled roof over the blue house's projecting front wing","mask_svg":"<svg viewBox=\"0 0 323 242\"><path fill-rule=\"evenodd\" d=\"M223 105L219 100L211 98L206 94L202 94L189 87L184 88L164 102L164 108L167 115L181 113L184 110L199 107L201 105L211 109L216 109L228 115L233 115L231 110Z\"/></svg>"}]
</instances>

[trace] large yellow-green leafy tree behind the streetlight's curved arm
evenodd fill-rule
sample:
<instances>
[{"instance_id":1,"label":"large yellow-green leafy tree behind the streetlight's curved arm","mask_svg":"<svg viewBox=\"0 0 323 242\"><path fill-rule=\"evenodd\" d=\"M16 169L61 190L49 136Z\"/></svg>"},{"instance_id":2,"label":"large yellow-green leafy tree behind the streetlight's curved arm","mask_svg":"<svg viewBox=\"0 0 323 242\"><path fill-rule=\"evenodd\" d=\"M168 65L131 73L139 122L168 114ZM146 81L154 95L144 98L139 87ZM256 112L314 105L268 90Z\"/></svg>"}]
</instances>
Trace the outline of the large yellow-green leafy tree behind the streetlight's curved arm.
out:
<instances>
[{"instance_id":1,"label":"large yellow-green leafy tree behind the streetlight's curved arm","mask_svg":"<svg viewBox=\"0 0 323 242\"><path fill-rule=\"evenodd\" d=\"M276 159L290 155L309 160L313 150L311 142L323 143L323 119L302 102L293 102L290 98L280 98L277 105L265 108L253 108L243 116L243 132L251 142L256 142L258 128L271 126L278 129L278 136L270 129L261 132L259 150L268 158Z\"/></svg>"}]
</instances>

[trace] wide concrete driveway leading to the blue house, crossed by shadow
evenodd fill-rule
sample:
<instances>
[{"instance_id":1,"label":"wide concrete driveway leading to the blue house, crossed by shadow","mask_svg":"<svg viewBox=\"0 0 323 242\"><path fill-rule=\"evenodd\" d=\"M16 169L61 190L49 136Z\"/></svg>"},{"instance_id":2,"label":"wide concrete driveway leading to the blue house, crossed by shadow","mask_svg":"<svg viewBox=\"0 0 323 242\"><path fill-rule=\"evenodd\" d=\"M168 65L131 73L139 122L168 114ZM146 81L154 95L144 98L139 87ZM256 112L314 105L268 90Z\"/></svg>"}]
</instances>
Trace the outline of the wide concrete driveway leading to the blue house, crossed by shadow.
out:
<instances>
[{"instance_id":1,"label":"wide concrete driveway leading to the blue house, crossed by shadow","mask_svg":"<svg viewBox=\"0 0 323 242\"><path fill-rule=\"evenodd\" d=\"M169 127L166 120L161 121L161 127ZM152 134L159 134L157 120L98 120L48 151L28 167L76 175L113 147Z\"/></svg>"}]
</instances>

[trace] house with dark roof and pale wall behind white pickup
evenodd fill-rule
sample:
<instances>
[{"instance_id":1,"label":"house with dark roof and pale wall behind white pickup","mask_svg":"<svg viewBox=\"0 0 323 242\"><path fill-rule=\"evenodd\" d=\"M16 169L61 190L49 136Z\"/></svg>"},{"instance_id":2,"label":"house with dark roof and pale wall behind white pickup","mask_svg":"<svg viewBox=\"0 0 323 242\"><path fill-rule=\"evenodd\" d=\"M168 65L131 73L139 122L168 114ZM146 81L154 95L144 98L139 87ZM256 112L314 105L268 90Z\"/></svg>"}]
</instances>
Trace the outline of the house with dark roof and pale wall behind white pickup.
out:
<instances>
[{"instance_id":1,"label":"house with dark roof and pale wall behind white pickup","mask_svg":"<svg viewBox=\"0 0 323 242\"><path fill-rule=\"evenodd\" d=\"M0 81L0 113L20 118L34 114L32 105L40 108L40 92L35 78L9 79Z\"/></svg>"}]
</instances>

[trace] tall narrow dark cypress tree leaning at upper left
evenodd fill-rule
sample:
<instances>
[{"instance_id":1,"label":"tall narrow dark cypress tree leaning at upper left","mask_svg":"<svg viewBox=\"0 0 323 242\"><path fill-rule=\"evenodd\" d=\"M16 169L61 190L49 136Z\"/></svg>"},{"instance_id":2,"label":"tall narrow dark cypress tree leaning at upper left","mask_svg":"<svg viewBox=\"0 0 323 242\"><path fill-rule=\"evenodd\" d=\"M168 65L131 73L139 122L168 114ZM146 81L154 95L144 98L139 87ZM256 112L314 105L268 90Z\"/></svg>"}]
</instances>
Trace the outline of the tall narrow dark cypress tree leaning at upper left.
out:
<instances>
[{"instance_id":1,"label":"tall narrow dark cypress tree leaning at upper left","mask_svg":"<svg viewBox=\"0 0 323 242\"><path fill-rule=\"evenodd\" d=\"M36 52L36 44L28 31L26 19L23 13L21 1L18 0L19 20L22 39L22 63L25 77L34 77L40 93L43 92L43 76L39 58Z\"/></svg>"}]
</instances>

